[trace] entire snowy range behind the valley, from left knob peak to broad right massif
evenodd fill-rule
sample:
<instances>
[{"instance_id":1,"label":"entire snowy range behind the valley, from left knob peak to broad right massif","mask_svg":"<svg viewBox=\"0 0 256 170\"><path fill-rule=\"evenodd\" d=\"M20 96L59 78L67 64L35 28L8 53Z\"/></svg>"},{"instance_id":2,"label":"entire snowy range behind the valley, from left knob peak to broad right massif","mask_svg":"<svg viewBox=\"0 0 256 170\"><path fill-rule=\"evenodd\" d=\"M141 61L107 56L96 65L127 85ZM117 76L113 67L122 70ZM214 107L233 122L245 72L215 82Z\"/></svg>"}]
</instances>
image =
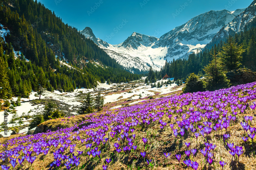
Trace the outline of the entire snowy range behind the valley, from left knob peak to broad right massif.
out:
<instances>
[{"instance_id":1,"label":"entire snowy range behind the valley, from left knob peak to broad right massif","mask_svg":"<svg viewBox=\"0 0 256 170\"><path fill-rule=\"evenodd\" d=\"M170 61L187 58L189 54L202 50L221 28L243 11L244 9L211 10L190 19L160 38L133 32L118 45L111 45L96 38L89 27L81 33L93 40L110 57L130 71L134 68L147 71L150 66L155 70L160 70L166 59Z\"/></svg>"}]
</instances>

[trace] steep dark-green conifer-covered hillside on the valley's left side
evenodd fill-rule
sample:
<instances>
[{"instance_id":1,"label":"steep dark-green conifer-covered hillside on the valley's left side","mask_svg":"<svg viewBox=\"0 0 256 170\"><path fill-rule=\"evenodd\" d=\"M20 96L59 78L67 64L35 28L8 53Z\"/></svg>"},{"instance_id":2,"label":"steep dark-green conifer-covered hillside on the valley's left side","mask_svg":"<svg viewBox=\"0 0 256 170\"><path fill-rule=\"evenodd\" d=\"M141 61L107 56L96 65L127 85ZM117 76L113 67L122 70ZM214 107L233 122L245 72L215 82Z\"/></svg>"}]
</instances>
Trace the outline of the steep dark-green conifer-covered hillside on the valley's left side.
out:
<instances>
[{"instance_id":1,"label":"steep dark-green conifer-covered hillside on the valley's left side","mask_svg":"<svg viewBox=\"0 0 256 170\"><path fill-rule=\"evenodd\" d=\"M0 23L10 31L4 39L0 37L0 98L28 97L39 84L49 91L73 91L76 87L93 88L97 81L116 83L141 78L125 71L40 2L3 0L0 16ZM17 56L13 50L19 51Z\"/></svg>"}]
</instances>

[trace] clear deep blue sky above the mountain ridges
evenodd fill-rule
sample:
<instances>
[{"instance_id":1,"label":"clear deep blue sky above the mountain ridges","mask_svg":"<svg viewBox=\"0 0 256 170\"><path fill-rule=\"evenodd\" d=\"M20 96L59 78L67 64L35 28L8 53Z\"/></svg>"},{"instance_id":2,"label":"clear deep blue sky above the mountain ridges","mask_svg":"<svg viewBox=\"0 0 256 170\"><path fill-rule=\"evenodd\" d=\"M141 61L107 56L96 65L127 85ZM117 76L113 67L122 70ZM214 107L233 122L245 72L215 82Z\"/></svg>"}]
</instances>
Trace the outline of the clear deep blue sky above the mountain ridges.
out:
<instances>
[{"instance_id":1,"label":"clear deep blue sky above the mountain ridges","mask_svg":"<svg viewBox=\"0 0 256 170\"><path fill-rule=\"evenodd\" d=\"M98 38L119 44L133 32L160 37L191 18L210 10L233 11L252 0L39 0L62 21ZM94 9L93 9L94 8Z\"/></svg>"}]
</instances>

